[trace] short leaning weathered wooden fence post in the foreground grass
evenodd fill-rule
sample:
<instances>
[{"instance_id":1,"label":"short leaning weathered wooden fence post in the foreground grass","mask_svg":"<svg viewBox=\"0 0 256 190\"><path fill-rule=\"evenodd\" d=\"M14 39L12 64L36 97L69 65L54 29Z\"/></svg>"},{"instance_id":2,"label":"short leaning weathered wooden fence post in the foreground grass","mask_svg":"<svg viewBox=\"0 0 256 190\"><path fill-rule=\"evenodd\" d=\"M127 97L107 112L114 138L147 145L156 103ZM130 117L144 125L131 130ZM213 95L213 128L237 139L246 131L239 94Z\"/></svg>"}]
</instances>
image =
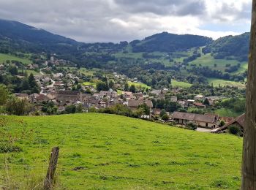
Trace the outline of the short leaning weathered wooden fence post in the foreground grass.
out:
<instances>
[{"instance_id":1,"label":"short leaning weathered wooden fence post in the foreground grass","mask_svg":"<svg viewBox=\"0 0 256 190\"><path fill-rule=\"evenodd\" d=\"M59 147L53 147L50 153L50 162L48 167L48 172L44 182L44 189L52 189L53 187L53 177L56 170L57 162L59 157Z\"/></svg>"}]
</instances>

